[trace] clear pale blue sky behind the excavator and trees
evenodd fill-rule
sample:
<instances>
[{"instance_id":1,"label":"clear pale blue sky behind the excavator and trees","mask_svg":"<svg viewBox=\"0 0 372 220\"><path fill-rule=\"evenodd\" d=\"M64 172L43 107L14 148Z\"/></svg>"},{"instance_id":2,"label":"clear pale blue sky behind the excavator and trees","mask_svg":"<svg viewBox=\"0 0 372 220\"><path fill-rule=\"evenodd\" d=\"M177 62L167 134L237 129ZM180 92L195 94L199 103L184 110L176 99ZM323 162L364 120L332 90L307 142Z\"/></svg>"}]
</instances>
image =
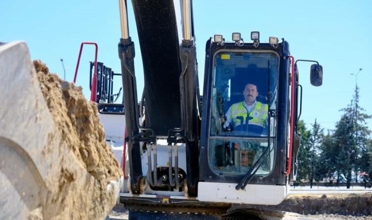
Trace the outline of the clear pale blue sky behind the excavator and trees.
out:
<instances>
[{"instance_id":1,"label":"clear pale blue sky behind the excavator and trees","mask_svg":"<svg viewBox=\"0 0 372 220\"><path fill-rule=\"evenodd\" d=\"M230 39L241 32L250 40L251 31L260 31L261 41L269 36L284 38L295 59L317 60L323 66L322 87L309 83L310 63L299 63L303 86L302 116L307 126L317 122L325 130L334 129L354 94L355 75L360 88L359 105L372 114L372 1L250 1L194 0L194 25L199 62L199 82L203 87L205 42L216 33ZM130 36L136 44L136 75L139 95L143 88L140 48L132 5L128 2ZM0 13L0 41L25 41L32 59L40 59L66 80L72 81L80 44L98 44L98 61L120 72L117 43L120 38L118 1L3 0ZM86 45L77 76L77 85L89 94L89 66L92 45ZM119 80L120 82L120 80ZM119 86L119 85L118 85ZM372 120L368 121L372 129Z\"/></svg>"}]
</instances>

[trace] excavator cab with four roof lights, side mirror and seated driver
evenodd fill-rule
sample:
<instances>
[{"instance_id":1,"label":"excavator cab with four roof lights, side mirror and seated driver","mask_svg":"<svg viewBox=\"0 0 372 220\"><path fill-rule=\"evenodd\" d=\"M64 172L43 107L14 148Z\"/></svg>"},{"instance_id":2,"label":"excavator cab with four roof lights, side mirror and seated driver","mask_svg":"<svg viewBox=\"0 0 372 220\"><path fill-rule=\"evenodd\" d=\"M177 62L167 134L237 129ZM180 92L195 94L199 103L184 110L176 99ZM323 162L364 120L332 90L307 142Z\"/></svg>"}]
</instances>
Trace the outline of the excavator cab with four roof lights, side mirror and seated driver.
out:
<instances>
[{"instance_id":1,"label":"excavator cab with four roof lights, side mirror and seated driver","mask_svg":"<svg viewBox=\"0 0 372 220\"><path fill-rule=\"evenodd\" d=\"M198 198L279 204L297 169L298 69L284 40L261 43L259 32L250 43L232 37L215 35L206 46Z\"/></svg>"}]
</instances>

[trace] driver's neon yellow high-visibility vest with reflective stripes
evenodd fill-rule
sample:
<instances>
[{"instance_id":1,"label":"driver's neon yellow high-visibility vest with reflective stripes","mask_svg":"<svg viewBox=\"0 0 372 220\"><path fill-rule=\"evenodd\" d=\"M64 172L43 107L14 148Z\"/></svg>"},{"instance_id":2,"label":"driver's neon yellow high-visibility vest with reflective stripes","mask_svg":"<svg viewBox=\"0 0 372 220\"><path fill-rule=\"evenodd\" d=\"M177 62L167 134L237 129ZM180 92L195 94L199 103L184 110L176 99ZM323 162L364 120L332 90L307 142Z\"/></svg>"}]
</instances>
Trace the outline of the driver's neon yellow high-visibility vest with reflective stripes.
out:
<instances>
[{"instance_id":1,"label":"driver's neon yellow high-visibility vest with reflective stripes","mask_svg":"<svg viewBox=\"0 0 372 220\"><path fill-rule=\"evenodd\" d=\"M234 122L234 126L238 126L241 124L241 120L237 118L238 116L242 116L243 124L246 124L248 112L247 109L243 106L243 102L232 104L231 108L231 116L232 121ZM267 104L257 102L255 108L251 111L251 113L249 113L249 116L252 117L252 119L248 121L248 124L264 127L266 124L268 109L269 106Z\"/></svg>"}]
</instances>

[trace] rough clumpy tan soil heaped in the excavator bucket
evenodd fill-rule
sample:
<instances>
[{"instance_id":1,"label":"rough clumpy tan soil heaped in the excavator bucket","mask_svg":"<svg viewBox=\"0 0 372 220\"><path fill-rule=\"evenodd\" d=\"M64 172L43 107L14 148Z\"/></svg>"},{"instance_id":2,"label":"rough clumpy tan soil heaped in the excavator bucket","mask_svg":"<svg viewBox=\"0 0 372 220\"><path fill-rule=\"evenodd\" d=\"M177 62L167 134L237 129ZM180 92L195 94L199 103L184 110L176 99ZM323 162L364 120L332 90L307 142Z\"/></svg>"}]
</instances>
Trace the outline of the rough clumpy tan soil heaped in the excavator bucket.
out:
<instances>
[{"instance_id":1,"label":"rough clumpy tan soil heaped in the excavator bucket","mask_svg":"<svg viewBox=\"0 0 372 220\"><path fill-rule=\"evenodd\" d=\"M117 179L122 171L106 143L97 104L87 101L81 87L49 73L40 60L34 66L49 112L77 160L97 180Z\"/></svg>"}]
</instances>

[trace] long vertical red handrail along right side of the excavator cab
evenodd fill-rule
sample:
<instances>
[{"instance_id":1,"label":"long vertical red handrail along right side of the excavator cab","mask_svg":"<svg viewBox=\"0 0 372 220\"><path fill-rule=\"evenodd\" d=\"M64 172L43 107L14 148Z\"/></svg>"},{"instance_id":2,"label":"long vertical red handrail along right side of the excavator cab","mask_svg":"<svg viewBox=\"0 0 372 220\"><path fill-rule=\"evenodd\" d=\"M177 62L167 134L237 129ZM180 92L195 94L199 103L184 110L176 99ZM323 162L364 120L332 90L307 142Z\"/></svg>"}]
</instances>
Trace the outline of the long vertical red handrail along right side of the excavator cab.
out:
<instances>
[{"instance_id":1,"label":"long vertical red handrail along right side of the excavator cab","mask_svg":"<svg viewBox=\"0 0 372 220\"><path fill-rule=\"evenodd\" d=\"M292 166L292 146L293 146L293 130L294 130L294 110L295 110L295 58L292 55L289 55L289 58L292 60L292 77L291 77L291 127L290 127L290 138L289 138L289 155L288 155L288 167L285 175L289 175L291 172Z\"/></svg>"}]
</instances>

